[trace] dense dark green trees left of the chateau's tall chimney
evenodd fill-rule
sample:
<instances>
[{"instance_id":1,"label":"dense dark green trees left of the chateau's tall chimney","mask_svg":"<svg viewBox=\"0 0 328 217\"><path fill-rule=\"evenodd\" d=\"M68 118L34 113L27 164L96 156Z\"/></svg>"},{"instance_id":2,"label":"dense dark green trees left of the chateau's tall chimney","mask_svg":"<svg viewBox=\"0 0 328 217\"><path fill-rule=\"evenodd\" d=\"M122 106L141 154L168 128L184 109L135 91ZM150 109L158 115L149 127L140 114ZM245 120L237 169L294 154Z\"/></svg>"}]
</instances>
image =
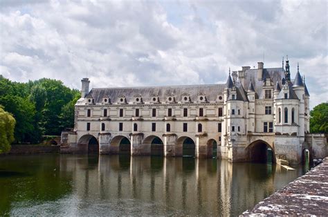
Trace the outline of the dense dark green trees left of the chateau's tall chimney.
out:
<instances>
[{"instance_id":1,"label":"dense dark green trees left of the chateau's tall chimney","mask_svg":"<svg viewBox=\"0 0 328 217\"><path fill-rule=\"evenodd\" d=\"M73 126L78 97L78 90L59 80L43 78L19 83L0 75L0 104L17 121L16 142L37 143L42 135L60 135Z\"/></svg>"}]
</instances>

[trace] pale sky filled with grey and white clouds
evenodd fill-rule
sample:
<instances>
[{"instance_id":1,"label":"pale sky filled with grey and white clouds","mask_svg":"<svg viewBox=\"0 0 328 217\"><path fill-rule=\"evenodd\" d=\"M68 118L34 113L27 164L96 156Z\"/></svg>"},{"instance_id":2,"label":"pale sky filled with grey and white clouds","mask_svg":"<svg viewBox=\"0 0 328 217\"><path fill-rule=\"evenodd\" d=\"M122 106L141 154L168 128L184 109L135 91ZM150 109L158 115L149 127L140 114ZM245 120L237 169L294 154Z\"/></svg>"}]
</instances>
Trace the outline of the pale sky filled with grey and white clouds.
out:
<instances>
[{"instance_id":1,"label":"pale sky filled with grey and white clouds","mask_svg":"<svg viewBox=\"0 0 328 217\"><path fill-rule=\"evenodd\" d=\"M91 87L218 84L229 67L305 76L328 101L327 1L0 0L0 74Z\"/></svg>"}]
</instances>

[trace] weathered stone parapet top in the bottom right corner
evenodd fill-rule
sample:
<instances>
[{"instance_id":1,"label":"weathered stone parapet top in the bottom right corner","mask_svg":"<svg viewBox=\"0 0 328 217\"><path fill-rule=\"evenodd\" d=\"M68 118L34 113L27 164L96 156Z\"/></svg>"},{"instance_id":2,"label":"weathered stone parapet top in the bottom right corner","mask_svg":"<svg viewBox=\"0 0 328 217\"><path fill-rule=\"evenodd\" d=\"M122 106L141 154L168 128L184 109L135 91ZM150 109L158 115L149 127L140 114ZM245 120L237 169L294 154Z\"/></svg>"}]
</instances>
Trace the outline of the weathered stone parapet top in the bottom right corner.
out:
<instances>
[{"instance_id":1,"label":"weathered stone parapet top in the bottom right corner","mask_svg":"<svg viewBox=\"0 0 328 217\"><path fill-rule=\"evenodd\" d=\"M242 216L326 216L328 214L328 158L304 176L259 202Z\"/></svg>"}]
</instances>

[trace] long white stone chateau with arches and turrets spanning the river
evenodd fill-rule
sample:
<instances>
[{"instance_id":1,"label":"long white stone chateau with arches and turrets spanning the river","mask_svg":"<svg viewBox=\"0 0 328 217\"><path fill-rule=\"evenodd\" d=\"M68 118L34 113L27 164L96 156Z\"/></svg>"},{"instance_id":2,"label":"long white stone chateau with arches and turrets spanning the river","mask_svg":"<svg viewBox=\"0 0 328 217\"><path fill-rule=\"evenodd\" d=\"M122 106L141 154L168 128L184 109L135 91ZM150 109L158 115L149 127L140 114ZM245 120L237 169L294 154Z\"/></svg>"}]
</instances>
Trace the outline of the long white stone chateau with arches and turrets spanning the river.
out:
<instances>
[{"instance_id":1,"label":"long white stone chateau with arches and turrets spanning the river","mask_svg":"<svg viewBox=\"0 0 328 217\"><path fill-rule=\"evenodd\" d=\"M231 161L302 161L309 138L309 92L289 60L243 66L226 84L93 88L82 79L75 127L62 152L193 155Z\"/></svg>"}]
</instances>

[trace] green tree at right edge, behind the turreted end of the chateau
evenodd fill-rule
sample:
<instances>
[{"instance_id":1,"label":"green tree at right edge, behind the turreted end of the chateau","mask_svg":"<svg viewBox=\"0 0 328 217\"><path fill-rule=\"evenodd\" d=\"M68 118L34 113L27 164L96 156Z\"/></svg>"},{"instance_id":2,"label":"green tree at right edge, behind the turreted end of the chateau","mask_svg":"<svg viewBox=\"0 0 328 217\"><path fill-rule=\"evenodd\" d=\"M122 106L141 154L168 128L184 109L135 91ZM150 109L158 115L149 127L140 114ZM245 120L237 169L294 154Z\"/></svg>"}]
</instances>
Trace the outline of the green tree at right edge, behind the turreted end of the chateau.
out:
<instances>
[{"instance_id":1,"label":"green tree at right edge, behind the turreted end of the chateau","mask_svg":"<svg viewBox=\"0 0 328 217\"><path fill-rule=\"evenodd\" d=\"M328 133L328 103L318 104L310 111L311 133Z\"/></svg>"}]
</instances>

